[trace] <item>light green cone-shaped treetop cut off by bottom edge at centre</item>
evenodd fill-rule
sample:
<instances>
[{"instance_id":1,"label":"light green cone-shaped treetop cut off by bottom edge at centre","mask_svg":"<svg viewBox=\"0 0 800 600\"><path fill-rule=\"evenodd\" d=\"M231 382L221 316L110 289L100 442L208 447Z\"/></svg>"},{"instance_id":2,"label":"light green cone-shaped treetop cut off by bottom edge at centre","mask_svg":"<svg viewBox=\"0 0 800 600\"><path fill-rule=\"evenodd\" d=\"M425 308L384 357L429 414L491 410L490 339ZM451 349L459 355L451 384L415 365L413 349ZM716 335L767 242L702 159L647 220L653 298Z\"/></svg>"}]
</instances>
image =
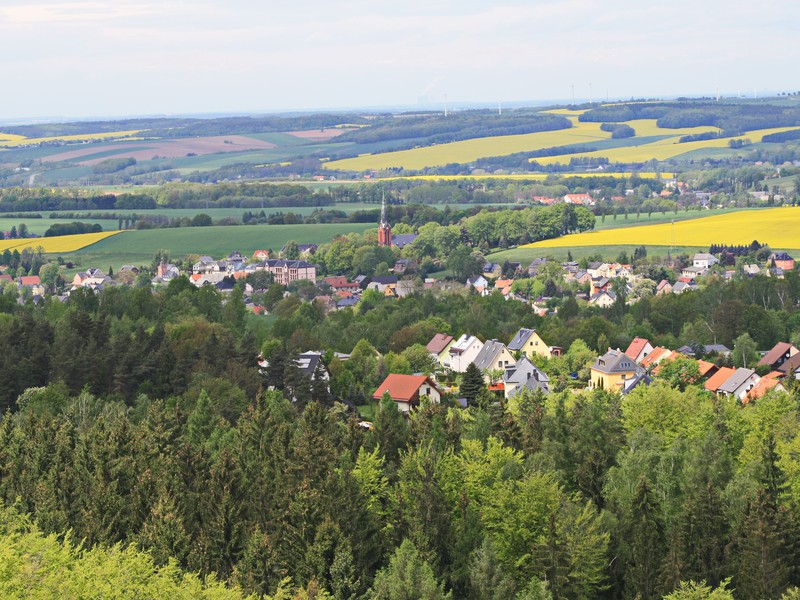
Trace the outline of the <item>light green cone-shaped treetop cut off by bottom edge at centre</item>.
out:
<instances>
[{"instance_id":1,"label":"light green cone-shaped treetop cut off by bottom edge at centre","mask_svg":"<svg viewBox=\"0 0 800 600\"><path fill-rule=\"evenodd\" d=\"M436 581L433 569L409 540L403 540L389 561L378 571L370 597L376 600L446 600L451 594Z\"/></svg>"}]
</instances>

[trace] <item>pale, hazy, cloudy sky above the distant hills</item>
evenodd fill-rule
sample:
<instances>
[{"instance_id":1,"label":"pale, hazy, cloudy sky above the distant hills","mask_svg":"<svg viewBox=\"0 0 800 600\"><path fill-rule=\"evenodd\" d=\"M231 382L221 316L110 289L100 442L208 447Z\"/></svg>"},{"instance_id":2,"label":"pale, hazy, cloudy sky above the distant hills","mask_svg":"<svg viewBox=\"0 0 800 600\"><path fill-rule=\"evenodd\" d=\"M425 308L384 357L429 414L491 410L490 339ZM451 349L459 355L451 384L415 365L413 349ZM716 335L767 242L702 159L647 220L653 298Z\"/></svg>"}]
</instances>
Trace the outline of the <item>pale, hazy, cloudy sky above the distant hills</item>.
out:
<instances>
[{"instance_id":1,"label":"pale, hazy, cloudy sky above the distant hills","mask_svg":"<svg viewBox=\"0 0 800 600\"><path fill-rule=\"evenodd\" d=\"M0 0L0 121L800 90L794 0Z\"/></svg>"}]
</instances>

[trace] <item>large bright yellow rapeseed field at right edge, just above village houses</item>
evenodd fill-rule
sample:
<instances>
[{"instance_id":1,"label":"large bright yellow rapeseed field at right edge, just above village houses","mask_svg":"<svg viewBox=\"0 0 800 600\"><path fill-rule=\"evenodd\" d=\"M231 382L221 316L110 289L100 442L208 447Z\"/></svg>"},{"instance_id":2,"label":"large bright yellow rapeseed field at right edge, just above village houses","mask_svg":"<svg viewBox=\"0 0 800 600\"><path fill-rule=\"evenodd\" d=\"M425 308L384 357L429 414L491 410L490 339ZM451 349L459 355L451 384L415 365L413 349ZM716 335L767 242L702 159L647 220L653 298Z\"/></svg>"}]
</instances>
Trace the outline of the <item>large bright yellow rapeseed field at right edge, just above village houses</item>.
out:
<instances>
[{"instance_id":1,"label":"large bright yellow rapeseed field at right edge, just above village houses","mask_svg":"<svg viewBox=\"0 0 800 600\"><path fill-rule=\"evenodd\" d=\"M780 250L800 249L800 208L740 210L686 221L602 229L528 244L526 248L576 246L709 246L758 240Z\"/></svg>"}]
</instances>

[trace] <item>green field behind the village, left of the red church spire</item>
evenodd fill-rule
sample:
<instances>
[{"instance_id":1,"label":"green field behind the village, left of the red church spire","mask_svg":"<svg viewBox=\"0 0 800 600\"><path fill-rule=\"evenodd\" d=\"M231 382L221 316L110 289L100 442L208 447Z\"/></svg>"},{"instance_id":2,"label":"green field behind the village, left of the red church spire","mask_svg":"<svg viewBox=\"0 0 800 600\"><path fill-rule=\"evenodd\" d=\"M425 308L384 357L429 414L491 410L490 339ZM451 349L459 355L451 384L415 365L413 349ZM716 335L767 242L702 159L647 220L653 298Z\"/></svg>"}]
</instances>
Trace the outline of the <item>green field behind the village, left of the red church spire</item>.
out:
<instances>
[{"instance_id":1,"label":"green field behind the village, left of the red church spire","mask_svg":"<svg viewBox=\"0 0 800 600\"><path fill-rule=\"evenodd\" d=\"M375 228L372 223L335 225L241 225L236 227L186 227L125 231L80 250L64 254L64 260L91 266L118 269L124 264L149 264L159 250L168 250L174 258L188 254L207 254L215 258L234 250L250 255L255 250L275 251L289 240L301 244L322 244L340 234Z\"/></svg>"}]
</instances>

